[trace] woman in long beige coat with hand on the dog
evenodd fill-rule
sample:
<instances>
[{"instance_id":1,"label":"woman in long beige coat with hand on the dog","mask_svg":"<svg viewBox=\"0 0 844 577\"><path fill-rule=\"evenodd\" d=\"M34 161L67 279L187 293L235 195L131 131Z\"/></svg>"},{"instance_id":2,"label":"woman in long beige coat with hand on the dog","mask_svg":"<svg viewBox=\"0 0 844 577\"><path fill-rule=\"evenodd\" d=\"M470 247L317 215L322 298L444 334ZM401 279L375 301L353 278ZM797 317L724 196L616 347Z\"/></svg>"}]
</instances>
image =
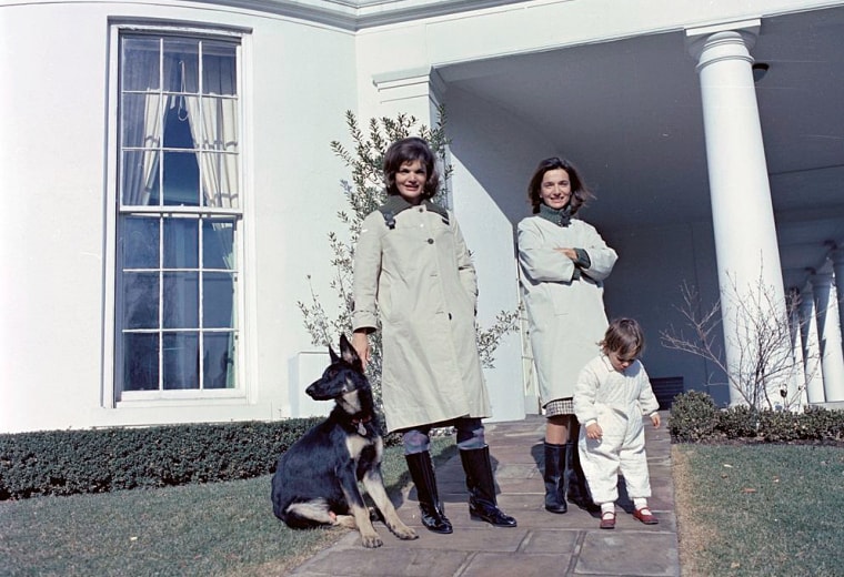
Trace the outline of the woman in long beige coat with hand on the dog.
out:
<instances>
[{"instance_id":1,"label":"woman in long beige coat with hand on the dog","mask_svg":"<svg viewBox=\"0 0 844 577\"><path fill-rule=\"evenodd\" d=\"M490 402L475 341L475 271L454 215L430 200L440 179L428 143L391 144L384 181L388 201L363 220L354 250L352 344L366 363L380 318L384 416L402 433L422 524L453 530L429 452L431 428L453 424L471 516L515 527L498 507L481 422Z\"/></svg>"}]
</instances>

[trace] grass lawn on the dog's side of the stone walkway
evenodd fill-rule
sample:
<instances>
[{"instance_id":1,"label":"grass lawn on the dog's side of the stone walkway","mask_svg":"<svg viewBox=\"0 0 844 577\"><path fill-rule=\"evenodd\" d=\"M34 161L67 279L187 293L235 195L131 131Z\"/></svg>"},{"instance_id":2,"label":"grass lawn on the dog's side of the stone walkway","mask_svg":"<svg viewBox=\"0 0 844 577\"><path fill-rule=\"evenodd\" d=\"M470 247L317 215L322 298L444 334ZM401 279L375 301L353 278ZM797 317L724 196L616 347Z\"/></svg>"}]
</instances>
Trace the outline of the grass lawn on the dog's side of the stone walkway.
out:
<instances>
[{"instance_id":1,"label":"grass lawn on the dog's side of the stone walkway","mask_svg":"<svg viewBox=\"0 0 844 577\"><path fill-rule=\"evenodd\" d=\"M454 455L453 438L433 441L436 460ZM401 447L382 470L396 502L410 482ZM272 514L270 479L0 503L0 575L284 575L346 530L289 529Z\"/></svg>"}]
</instances>

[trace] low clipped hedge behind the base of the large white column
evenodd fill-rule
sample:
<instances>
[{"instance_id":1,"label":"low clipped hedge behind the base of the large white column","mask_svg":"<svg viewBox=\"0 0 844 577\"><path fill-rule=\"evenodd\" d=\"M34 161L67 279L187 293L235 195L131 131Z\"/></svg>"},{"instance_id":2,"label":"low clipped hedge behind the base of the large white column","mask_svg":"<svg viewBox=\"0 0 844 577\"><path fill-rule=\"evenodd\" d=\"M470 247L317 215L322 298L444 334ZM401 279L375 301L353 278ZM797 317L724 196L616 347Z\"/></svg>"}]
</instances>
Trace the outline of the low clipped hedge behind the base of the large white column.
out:
<instances>
[{"instance_id":1,"label":"low clipped hedge behind the base of the large white column","mask_svg":"<svg viewBox=\"0 0 844 577\"><path fill-rule=\"evenodd\" d=\"M844 441L844 411L807 407L803 413L755 411L746 405L719 409L712 397L690 391L674 397L669 431L675 443L750 439L767 443Z\"/></svg>"}]
</instances>

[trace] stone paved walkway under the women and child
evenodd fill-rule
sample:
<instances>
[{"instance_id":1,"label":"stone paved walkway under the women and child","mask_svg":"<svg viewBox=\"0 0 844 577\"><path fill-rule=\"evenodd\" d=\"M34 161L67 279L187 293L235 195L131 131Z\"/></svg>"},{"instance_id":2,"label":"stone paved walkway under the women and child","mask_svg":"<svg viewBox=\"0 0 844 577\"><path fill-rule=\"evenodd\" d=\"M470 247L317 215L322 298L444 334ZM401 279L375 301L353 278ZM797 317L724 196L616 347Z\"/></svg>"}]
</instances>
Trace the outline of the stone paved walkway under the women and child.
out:
<instances>
[{"instance_id":1,"label":"stone paved walkway under the women and child","mask_svg":"<svg viewBox=\"0 0 844 577\"><path fill-rule=\"evenodd\" d=\"M399 515L420 538L399 540L381 523L375 529L383 547L365 549L356 532L299 566L299 577L533 577L533 576L679 576L671 439L663 414L659 429L645 422L653 497L649 504L660 525L646 526L619 507L614 530L597 528L599 519L570 506L554 515L544 509L542 482L544 419L486 425L501 508L516 528L496 528L471 520L460 456L438 467L438 486L451 535L425 530L411 488L402 495ZM620 505L632 506L622 496ZM632 510L632 509L631 509Z\"/></svg>"}]
</instances>

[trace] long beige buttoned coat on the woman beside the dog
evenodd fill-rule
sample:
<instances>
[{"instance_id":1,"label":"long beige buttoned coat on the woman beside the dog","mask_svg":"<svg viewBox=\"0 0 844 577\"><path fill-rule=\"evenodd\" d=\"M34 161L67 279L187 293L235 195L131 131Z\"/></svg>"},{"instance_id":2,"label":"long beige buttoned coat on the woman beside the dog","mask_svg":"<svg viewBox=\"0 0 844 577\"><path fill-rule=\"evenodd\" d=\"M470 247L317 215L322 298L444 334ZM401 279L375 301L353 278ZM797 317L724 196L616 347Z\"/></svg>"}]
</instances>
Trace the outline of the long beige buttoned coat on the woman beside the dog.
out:
<instances>
[{"instance_id":1,"label":"long beige buttoned coat on the woman beside the dog","mask_svg":"<svg viewBox=\"0 0 844 577\"><path fill-rule=\"evenodd\" d=\"M378 211L364 219L354 252L352 328L375 328L381 315L389 431L490 416L476 298L474 266L453 214L446 222L422 204L396 214L394 229Z\"/></svg>"}]
</instances>

